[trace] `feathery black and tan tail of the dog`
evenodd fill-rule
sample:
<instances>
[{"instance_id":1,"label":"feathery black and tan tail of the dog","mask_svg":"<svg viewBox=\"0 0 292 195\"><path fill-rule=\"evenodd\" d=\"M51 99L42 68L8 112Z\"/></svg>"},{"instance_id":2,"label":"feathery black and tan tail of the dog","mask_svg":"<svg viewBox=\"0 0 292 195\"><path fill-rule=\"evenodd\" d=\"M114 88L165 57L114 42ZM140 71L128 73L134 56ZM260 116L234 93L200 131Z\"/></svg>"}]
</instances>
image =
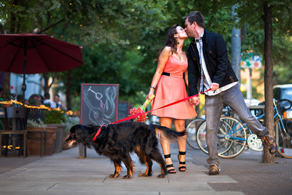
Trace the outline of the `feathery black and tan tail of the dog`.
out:
<instances>
[{"instance_id":1,"label":"feathery black and tan tail of the dog","mask_svg":"<svg viewBox=\"0 0 292 195\"><path fill-rule=\"evenodd\" d=\"M184 129L181 132L169 129L167 127L164 126L160 126L160 125L154 125L151 124L150 126L152 126L156 132L156 135L158 138L164 138L167 139L171 142L175 142L178 138L181 138L183 136L186 135L186 130Z\"/></svg>"}]
</instances>

